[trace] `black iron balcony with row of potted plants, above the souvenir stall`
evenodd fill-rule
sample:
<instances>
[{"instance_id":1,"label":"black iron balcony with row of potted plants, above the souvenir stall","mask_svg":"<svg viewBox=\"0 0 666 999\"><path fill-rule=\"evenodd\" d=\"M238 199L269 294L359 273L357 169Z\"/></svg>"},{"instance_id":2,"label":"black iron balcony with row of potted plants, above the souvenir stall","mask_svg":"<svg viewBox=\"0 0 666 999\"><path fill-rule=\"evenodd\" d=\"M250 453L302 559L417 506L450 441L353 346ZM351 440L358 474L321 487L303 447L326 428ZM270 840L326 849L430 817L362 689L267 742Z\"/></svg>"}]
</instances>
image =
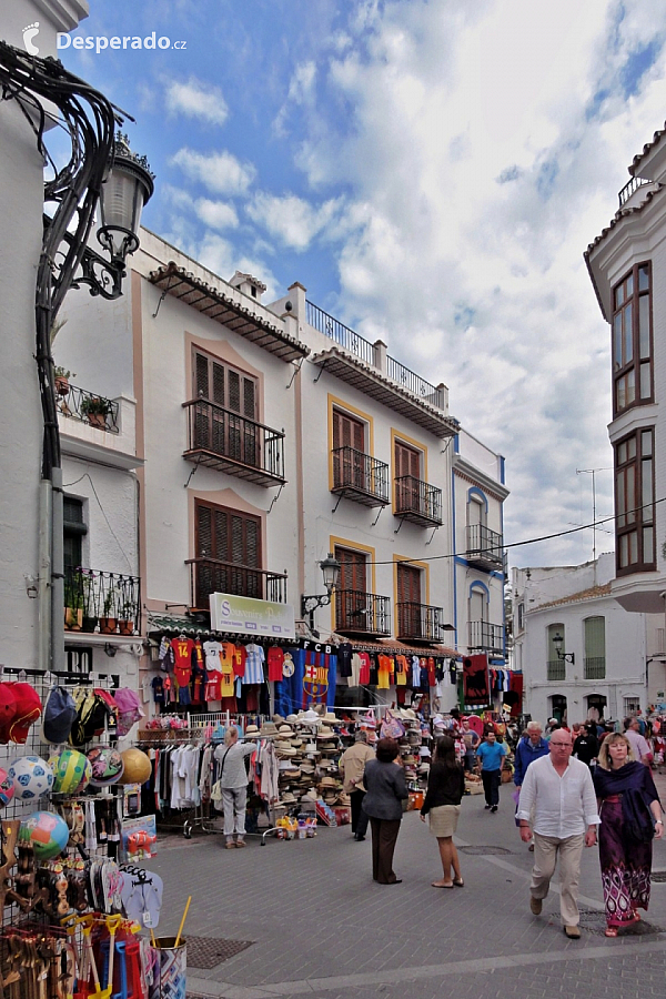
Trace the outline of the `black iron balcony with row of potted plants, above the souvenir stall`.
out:
<instances>
[{"instance_id":1,"label":"black iron balcony with row of potted plants, above the souvenir stall","mask_svg":"<svg viewBox=\"0 0 666 999\"><path fill-rule=\"evenodd\" d=\"M91 568L64 572L64 627L69 632L134 635L141 627L141 581Z\"/></svg>"}]
</instances>

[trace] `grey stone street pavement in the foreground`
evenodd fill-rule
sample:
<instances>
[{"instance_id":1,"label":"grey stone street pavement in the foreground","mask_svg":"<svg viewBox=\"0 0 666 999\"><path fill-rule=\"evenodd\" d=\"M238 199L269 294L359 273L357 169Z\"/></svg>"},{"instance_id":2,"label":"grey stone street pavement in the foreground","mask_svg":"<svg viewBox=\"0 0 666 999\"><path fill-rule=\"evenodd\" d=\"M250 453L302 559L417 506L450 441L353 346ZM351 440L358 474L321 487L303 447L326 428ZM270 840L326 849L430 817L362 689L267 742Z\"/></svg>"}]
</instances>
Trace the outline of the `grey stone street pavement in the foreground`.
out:
<instances>
[{"instance_id":1,"label":"grey stone street pavement in the foreground","mask_svg":"<svg viewBox=\"0 0 666 999\"><path fill-rule=\"evenodd\" d=\"M395 886L373 882L370 839L354 842L349 826L265 847L251 838L245 850L223 849L222 836L170 836L147 865L164 879L159 935L175 934L192 895L185 937L253 941L210 970L190 960L189 996L663 997L666 882L653 884L639 932L606 939L598 855L585 850L583 936L567 940L556 885L542 916L529 912L532 854L511 790L502 788L496 815L484 811L483 795L464 798L456 841L465 887L454 890L431 887L441 877L436 841L415 813L402 824ZM666 877L666 842L655 844L654 870Z\"/></svg>"}]
</instances>

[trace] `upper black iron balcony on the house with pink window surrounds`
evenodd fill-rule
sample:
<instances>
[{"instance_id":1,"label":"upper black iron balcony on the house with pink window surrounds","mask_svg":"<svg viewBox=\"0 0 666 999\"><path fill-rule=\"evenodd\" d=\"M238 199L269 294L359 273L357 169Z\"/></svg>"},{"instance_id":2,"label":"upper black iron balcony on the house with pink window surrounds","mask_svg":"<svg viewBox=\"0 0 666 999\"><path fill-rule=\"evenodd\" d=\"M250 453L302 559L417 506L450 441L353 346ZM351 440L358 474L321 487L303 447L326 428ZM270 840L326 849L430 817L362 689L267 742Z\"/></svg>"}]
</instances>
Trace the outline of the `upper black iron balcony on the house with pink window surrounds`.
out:
<instances>
[{"instance_id":1,"label":"upper black iron balcony on the house with pink window surrounds","mask_svg":"<svg viewBox=\"0 0 666 999\"><path fill-rule=\"evenodd\" d=\"M188 410L188 450L183 457L261 486L284 478L284 434L202 398Z\"/></svg>"}]
</instances>

